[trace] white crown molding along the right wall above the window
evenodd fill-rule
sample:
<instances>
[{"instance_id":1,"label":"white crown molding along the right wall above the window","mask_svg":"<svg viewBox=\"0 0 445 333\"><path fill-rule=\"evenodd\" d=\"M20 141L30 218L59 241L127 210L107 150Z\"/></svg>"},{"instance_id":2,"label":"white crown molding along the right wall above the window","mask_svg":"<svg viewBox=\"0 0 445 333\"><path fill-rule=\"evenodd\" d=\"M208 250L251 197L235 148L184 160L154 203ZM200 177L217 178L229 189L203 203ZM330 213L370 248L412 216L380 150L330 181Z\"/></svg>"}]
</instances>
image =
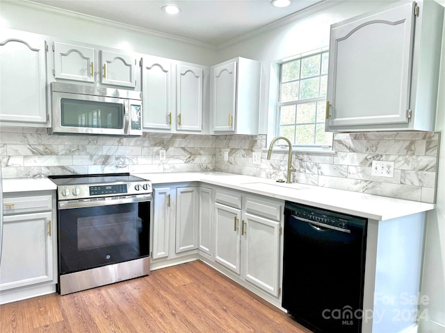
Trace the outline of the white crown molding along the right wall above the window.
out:
<instances>
[{"instance_id":1,"label":"white crown molding along the right wall above the window","mask_svg":"<svg viewBox=\"0 0 445 333\"><path fill-rule=\"evenodd\" d=\"M300 19L304 19L305 17L314 15L317 12L321 12L328 8L337 6L337 5L339 5L339 3L343 3L346 1L347 0L338 0L338 1L322 0L318 3L315 3L312 6L309 6L305 9L299 10L298 12L294 12L291 15L287 15L286 17L283 17L282 19L277 19L274 22L266 24L265 26L262 26L261 28L257 28L253 31L250 31L249 33L244 33L243 35L234 37L234 38L232 38L232 40L228 40L227 42L218 44L218 46L216 46L216 48L218 50L221 50L221 49L225 49L228 46L232 46L234 44L239 44L241 42L244 42L245 40L250 40L251 38L256 37L257 35L261 35L262 33L268 33L269 31L273 31L277 28L281 28L282 26L286 26L287 24L297 22Z\"/></svg>"}]
</instances>

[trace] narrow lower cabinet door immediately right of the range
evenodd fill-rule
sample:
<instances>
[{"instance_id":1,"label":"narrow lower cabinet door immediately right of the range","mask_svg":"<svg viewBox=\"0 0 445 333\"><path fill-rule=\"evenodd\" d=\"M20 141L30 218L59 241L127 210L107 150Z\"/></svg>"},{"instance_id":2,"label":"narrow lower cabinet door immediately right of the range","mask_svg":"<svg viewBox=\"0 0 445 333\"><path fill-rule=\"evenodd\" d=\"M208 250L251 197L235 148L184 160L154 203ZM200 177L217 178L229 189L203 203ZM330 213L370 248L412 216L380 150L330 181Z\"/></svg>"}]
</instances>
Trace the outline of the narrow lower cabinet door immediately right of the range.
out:
<instances>
[{"instance_id":1,"label":"narrow lower cabinet door immediately right of the range","mask_svg":"<svg viewBox=\"0 0 445 333\"><path fill-rule=\"evenodd\" d=\"M170 237L170 187L153 189L153 259L168 257Z\"/></svg>"}]
</instances>

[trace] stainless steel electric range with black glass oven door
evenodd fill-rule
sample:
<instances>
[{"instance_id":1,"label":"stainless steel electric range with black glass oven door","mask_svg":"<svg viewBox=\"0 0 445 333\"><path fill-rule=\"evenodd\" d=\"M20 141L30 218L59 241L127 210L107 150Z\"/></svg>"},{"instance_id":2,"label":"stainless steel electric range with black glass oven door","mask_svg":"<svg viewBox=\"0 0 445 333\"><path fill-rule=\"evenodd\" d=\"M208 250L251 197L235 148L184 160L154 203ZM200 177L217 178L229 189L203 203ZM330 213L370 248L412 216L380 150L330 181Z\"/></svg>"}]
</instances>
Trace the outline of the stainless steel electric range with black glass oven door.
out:
<instances>
[{"instance_id":1,"label":"stainless steel electric range with black glass oven door","mask_svg":"<svg viewBox=\"0 0 445 333\"><path fill-rule=\"evenodd\" d=\"M60 295L149 274L149 180L129 173L49 179L57 185Z\"/></svg>"}]
</instances>

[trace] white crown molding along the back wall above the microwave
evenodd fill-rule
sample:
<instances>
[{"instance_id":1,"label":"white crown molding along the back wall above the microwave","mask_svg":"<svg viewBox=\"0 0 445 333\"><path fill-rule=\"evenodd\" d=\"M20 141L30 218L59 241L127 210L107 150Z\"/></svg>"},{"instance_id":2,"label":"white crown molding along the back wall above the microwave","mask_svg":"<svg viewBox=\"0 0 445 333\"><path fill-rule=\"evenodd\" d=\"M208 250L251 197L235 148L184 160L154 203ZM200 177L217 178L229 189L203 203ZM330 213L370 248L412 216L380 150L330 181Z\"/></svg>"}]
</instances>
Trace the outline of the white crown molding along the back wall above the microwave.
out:
<instances>
[{"instance_id":1,"label":"white crown molding along the back wall above the microwave","mask_svg":"<svg viewBox=\"0 0 445 333\"><path fill-rule=\"evenodd\" d=\"M66 17L69 19L76 19L76 20L87 22L90 24L97 24L99 26L108 26L111 28L117 28L120 30L129 31L131 33L140 33L142 35L147 35L147 36L151 36L151 37L160 37L160 38L164 38L166 40L172 40L174 42L181 42L184 44L192 44L192 45L199 46L199 47L202 47L205 49L211 49L213 51L216 50L216 45L213 45L213 44L204 43L204 42L200 42L197 40L192 40L192 39L189 39L186 37L170 35L168 33L161 33L159 31L154 31L154 30L150 30L150 29L146 29L146 28L140 28L138 26L133 26L131 24L114 22L114 21L111 21L110 19L104 19L102 17L96 17L96 16L92 16L92 15L82 14L79 12L74 12L72 10L60 9L60 8L56 8L53 6L45 5L43 3L35 3L32 1L28 1L28 0L19 0L19 1L17 1L17 0L0 0L0 4L1 3L8 3L8 5L10 5L10 6L22 7L22 8L38 11L38 12L45 12L45 13L48 13L51 15L57 15L57 16Z\"/></svg>"}]
</instances>

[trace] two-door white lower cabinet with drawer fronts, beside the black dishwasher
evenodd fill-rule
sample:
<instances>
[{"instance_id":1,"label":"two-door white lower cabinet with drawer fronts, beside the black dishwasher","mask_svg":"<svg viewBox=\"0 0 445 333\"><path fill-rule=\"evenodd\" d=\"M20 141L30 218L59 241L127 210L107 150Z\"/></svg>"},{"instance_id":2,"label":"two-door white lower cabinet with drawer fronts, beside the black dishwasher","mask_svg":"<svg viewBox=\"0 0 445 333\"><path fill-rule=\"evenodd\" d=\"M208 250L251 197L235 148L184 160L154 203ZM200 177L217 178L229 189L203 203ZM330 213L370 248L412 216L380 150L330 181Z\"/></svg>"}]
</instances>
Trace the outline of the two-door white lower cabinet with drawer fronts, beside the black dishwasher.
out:
<instances>
[{"instance_id":1,"label":"two-door white lower cabinet with drawer fronts, beside the black dishwasher","mask_svg":"<svg viewBox=\"0 0 445 333\"><path fill-rule=\"evenodd\" d=\"M219 189L215 197L215 261L279 296L284 202Z\"/></svg>"}]
</instances>

